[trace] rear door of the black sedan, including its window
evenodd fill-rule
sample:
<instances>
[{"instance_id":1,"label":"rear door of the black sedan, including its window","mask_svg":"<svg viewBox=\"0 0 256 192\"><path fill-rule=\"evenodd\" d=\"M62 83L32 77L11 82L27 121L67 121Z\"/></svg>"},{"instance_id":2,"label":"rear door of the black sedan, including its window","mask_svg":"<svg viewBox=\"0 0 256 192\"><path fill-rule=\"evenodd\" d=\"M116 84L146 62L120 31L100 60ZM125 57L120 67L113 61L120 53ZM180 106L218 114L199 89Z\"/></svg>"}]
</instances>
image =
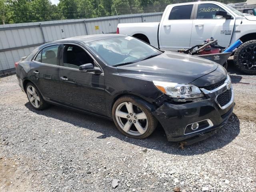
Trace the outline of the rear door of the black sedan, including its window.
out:
<instances>
[{"instance_id":1,"label":"rear door of the black sedan, including its window","mask_svg":"<svg viewBox=\"0 0 256 192\"><path fill-rule=\"evenodd\" d=\"M32 80L41 94L50 100L58 100L62 94L59 82L60 44L43 48L31 62Z\"/></svg>"}]
</instances>

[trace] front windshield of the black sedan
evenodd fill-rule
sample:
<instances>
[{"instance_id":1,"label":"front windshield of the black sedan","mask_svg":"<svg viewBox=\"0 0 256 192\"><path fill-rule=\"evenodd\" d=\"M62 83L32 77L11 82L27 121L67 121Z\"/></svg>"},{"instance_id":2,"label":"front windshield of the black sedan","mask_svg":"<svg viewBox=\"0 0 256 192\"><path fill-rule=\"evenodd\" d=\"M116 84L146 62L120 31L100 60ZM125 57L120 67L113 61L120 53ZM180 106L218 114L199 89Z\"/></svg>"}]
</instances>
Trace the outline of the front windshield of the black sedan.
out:
<instances>
[{"instance_id":1,"label":"front windshield of the black sedan","mask_svg":"<svg viewBox=\"0 0 256 192\"><path fill-rule=\"evenodd\" d=\"M120 36L86 44L110 66L131 64L162 54L160 50L131 36Z\"/></svg>"}]
</instances>

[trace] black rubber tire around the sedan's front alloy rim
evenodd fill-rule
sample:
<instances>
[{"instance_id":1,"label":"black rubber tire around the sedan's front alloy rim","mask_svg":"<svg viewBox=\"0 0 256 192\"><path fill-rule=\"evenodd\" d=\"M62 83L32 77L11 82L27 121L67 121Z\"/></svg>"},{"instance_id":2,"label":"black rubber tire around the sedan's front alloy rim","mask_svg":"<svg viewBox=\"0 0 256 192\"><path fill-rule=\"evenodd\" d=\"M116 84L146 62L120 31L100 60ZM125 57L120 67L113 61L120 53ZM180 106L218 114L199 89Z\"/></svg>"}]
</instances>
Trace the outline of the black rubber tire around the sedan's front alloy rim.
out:
<instances>
[{"instance_id":1,"label":"black rubber tire around the sedan's front alloy rim","mask_svg":"<svg viewBox=\"0 0 256 192\"><path fill-rule=\"evenodd\" d=\"M114 123L116 124L116 127L118 128L118 130L120 130L120 132L122 132L122 134L135 139L144 139L150 136L154 132L158 124L158 121L146 107L144 107L143 105L140 104L140 102L138 102L139 100L141 99L135 96L122 96L118 98L118 100L116 100L112 108L112 117L113 117ZM134 135L128 134L124 130L122 130L122 128L118 125L118 122L116 120L116 108L118 107L119 104L123 102L130 102L135 106L138 106L146 114L148 118L148 128L144 134L140 136L134 136Z\"/></svg>"}]
</instances>

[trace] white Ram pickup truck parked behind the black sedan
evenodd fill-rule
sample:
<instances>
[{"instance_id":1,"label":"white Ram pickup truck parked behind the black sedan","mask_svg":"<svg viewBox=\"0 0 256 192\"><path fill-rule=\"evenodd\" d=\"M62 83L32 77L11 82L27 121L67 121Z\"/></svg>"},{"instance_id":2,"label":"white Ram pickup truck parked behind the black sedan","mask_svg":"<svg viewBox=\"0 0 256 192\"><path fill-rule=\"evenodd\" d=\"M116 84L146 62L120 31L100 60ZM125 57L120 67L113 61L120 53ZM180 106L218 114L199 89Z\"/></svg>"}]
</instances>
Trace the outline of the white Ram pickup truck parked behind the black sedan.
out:
<instances>
[{"instance_id":1,"label":"white Ram pickup truck parked behind the black sedan","mask_svg":"<svg viewBox=\"0 0 256 192\"><path fill-rule=\"evenodd\" d=\"M160 23L121 23L117 33L170 51L202 44L210 37L224 47L240 39L243 44L234 53L234 64L244 73L256 74L256 16L220 2L171 4Z\"/></svg>"}]
</instances>

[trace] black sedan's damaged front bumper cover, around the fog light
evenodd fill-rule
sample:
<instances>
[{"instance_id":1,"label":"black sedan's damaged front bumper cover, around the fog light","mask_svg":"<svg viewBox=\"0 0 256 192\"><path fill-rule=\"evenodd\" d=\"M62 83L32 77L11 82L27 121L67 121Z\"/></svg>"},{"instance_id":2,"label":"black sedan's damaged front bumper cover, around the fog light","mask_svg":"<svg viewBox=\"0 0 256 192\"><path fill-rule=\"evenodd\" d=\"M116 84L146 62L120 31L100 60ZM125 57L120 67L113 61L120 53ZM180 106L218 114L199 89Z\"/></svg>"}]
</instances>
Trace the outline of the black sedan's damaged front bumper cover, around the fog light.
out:
<instances>
[{"instance_id":1,"label":"black sedan's damaged front bumper cover, around the fog light","mask_svg":"<svg viewBox=\"0 0 256 192\"><path fill-rule=\"evenodd\" d=\"M186 103L171 104L164 102L157 110L154 116L158 119L166 132L168 141L180 142L186 140L187 143L204 140L216 133L226 122L233 112L234 99L231 104L221 109L216 104L214 98ZM184 134L187 125L209 119L213 126L198 132ZM193 143L193 142L192 142Z\"/></svg>"}]
</instances>

